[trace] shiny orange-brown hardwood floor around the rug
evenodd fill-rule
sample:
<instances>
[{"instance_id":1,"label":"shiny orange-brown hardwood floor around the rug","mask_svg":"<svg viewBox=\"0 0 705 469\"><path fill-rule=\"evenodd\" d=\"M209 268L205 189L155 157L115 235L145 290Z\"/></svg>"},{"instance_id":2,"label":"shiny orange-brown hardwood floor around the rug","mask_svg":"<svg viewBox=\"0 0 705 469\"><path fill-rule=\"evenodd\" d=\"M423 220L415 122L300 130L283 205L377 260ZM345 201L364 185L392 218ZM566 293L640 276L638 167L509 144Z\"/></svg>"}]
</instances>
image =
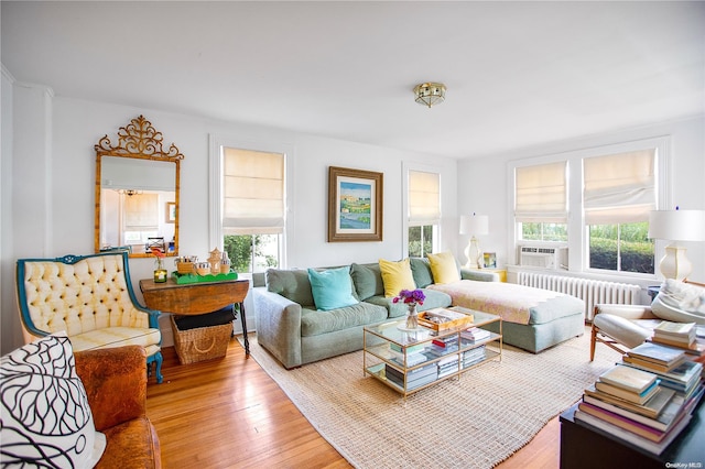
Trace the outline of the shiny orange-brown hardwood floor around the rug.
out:
<instances>
[{"instance_id":1,"label":"shiny orange-brown hardwood floor around the rug","mask_svg":"<svg viewBox=\"0 0 705 469\"><path fill-rule=\"evenodd\" d=\"M164 382L150 379L148 415L164 468L349 468L286 394L232 339L221 360L182 366L163 349ZM557 417L497 466L558 467Z\"/></svg>"}]
</instances>

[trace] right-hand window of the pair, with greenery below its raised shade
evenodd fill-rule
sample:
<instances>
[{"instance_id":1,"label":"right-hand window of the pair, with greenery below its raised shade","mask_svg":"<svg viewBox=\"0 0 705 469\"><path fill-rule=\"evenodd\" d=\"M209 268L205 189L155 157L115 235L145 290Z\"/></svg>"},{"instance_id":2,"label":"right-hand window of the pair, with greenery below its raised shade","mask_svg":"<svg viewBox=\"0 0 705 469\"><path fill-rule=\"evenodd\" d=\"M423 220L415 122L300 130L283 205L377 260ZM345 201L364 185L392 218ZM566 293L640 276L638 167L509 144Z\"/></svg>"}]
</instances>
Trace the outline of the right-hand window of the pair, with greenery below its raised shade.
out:
<instances>
[{"instance_id":1,"label":"right-hand window of the pair, with greenery below its raised shade","mask_svg":"<svg viewBox=\"0 0 705 469\"><path fill-rule=\"evenodd\" d=\"M655 204L655 150L583 160L583 206L590 269L654 273L648 238Z\"/></svg>"}]
</instances>

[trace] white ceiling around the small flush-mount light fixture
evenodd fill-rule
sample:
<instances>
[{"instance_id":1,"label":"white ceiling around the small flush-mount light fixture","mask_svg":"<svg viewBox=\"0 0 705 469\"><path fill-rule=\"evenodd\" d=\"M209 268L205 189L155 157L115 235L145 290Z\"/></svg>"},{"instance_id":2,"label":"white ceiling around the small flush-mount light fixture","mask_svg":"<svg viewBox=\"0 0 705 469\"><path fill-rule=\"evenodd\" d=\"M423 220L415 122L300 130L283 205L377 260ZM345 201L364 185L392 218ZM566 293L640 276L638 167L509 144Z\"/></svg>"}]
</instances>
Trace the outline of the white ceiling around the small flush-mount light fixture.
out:
<instances>
[{"instance_id":1,"label":"white ceiling around the small flush-mount light fixture","mask_svg":"<svg viewBox=\"0 0 705 469\"><path fill-rule=\"evenodd\" d=\"M704 2L10 2L57 96L451 157L705 113ZM445 83L432 109L413 100Z\"/></svg>"}]
</instances>

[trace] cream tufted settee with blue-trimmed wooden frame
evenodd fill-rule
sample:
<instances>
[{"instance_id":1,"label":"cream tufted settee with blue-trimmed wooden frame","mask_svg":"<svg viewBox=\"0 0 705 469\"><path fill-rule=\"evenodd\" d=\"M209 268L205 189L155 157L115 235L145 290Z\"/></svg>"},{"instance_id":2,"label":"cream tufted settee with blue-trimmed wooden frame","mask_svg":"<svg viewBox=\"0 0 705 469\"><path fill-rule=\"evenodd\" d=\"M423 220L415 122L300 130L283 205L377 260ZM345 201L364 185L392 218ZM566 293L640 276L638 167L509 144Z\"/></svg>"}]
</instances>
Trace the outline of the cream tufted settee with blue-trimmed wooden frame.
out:
<instances>
[{"instance_id":1,"label":"cream tufted settee with blue-trimmed wooden frame","mask_svg":"<svg viewBox=\"0 0 705 469\"><path fill-rule=\"evenodd\" d=\"M65 330L75 351L142 346L161 383L161 313L137 302L128 268L127 252L18 260L24 341Z\"/></svg>"}]
</instances>

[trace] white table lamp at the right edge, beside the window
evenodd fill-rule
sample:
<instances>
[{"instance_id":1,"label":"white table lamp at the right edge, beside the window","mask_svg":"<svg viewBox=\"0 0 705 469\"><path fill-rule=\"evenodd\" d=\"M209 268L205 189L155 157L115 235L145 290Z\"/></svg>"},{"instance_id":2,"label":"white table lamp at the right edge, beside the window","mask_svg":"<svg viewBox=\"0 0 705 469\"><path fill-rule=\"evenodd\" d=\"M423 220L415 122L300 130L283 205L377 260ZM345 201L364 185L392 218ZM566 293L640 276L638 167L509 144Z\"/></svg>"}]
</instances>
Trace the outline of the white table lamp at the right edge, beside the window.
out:
<instances>
[{"instance_id":1,"label":"white table lamp at the right edge, beside the window","mask_svg":"<svg viewBox=\"0 0 705 469\"><path fill-rule=\"evenodd\" d=\"M659 263L664 279L682 281L693 271L685 257L685 248L679 241L705 241L704 210L652 210L649 215L649 238L673 241L665 247L665 255Z\"/></svg>"}]
</instances>

